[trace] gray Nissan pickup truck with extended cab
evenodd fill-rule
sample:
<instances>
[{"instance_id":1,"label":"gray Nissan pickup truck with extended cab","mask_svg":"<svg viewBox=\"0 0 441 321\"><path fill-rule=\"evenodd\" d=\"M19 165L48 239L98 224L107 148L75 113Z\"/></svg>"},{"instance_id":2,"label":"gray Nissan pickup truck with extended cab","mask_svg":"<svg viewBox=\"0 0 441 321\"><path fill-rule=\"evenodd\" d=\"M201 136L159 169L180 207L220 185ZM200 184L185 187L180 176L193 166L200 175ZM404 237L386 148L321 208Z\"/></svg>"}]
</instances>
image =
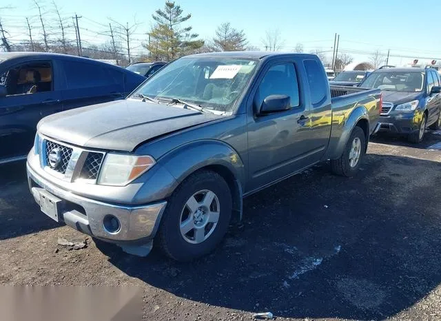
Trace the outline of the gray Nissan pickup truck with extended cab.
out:
<instances>
[{"instance_id":1,"label":"gray Nissan pickup truck with extended cab","mask_svg":"<svg viewBox=\"0 0 441 321\"><path fill-rule=\"evenodd\" d=\"M355 174L380 105L380 90L330 88L315 55L185 56L124 101L43 118L29 186L78 231L191 260L242 218L245 196L322 161Z\"/></svg>"}]
</instances>

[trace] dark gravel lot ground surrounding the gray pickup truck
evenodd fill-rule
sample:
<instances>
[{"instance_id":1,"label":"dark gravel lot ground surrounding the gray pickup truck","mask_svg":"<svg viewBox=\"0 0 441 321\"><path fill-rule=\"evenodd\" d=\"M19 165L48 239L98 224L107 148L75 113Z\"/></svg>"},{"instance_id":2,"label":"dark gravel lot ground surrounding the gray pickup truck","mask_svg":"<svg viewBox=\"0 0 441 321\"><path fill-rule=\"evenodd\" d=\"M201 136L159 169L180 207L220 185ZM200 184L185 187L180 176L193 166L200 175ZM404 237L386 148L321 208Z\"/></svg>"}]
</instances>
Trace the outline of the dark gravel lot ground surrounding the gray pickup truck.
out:
<instances>
[{"instance_id":1,"label":"dark gravel lot ground surrounding the gray pickup truck","mask_svg":"<svg viewBox=\"0 0 441 321\"><path fill-rule=\"evenodd\" d=\"M250 196L243 229L185 264L68 251L58 238L85 236L40 213L23 163L3 166L0 283L142 287L147 320L441 320L440 141L377 138L354 178L325 164Z\"/></svg>"}]
</instances>

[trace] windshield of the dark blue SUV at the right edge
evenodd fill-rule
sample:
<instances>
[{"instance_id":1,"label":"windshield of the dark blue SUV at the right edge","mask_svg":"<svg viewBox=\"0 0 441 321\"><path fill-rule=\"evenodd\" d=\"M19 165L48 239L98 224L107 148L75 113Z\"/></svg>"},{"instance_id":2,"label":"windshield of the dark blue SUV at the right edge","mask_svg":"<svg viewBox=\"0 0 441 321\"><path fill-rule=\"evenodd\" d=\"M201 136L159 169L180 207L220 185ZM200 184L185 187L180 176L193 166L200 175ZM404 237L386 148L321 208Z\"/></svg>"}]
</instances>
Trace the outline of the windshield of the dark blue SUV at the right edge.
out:
<instances>
[{"instance_id":1,"label":"windshield of the dark blue SUV at the right edge","mask_svg":"<svg viewBox=\"0 0 441 321\"><path fill-rule=\"evenodd\" d=\"M423 72L373 72L361 87L391 90L393 92L421 92L424 87Z\"/></svg>"}]
</instances>

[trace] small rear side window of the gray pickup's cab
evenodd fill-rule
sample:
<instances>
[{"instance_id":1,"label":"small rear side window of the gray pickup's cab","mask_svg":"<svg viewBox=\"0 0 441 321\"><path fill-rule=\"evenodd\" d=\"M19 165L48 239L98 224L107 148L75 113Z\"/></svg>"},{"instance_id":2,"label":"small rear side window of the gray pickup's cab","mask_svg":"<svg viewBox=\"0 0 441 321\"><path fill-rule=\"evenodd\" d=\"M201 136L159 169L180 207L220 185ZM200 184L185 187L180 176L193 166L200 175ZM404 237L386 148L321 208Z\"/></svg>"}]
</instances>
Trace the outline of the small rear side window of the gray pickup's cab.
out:
<instances>
[{"instance_id":1,"label":"small rear side window of the gray pickup's cab","mask_svg":"<svg viewBox=\"0 0 441 321\"><path fill-rule=\"evenodd\" d=\"M327 88L329 87L323 75L323 68L313 59L305 59L305 66L309 92L311 93L311 104L316 105L326 99Z\"/></svg>"}]
</instances>

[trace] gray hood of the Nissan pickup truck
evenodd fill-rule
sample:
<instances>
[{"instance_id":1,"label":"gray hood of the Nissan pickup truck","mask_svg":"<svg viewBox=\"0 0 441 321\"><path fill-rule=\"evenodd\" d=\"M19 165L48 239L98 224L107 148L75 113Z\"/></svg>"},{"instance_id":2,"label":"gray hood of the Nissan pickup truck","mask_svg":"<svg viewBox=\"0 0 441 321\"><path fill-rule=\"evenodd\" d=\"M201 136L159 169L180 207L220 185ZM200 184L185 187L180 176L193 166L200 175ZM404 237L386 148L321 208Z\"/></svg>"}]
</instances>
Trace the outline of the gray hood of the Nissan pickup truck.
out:
<instances>
[{"instance_id":1,"label":"gray hood of the Nissan pickup truck","mask_svg":"<svg viewBox=\"0 0 441 321\"><path fill-rule=\"evenodd\" d=\"M223 116L127 99L43 118L38 132L82 147L132 152L150 139Z\"/></svg>"}]
</instances>

